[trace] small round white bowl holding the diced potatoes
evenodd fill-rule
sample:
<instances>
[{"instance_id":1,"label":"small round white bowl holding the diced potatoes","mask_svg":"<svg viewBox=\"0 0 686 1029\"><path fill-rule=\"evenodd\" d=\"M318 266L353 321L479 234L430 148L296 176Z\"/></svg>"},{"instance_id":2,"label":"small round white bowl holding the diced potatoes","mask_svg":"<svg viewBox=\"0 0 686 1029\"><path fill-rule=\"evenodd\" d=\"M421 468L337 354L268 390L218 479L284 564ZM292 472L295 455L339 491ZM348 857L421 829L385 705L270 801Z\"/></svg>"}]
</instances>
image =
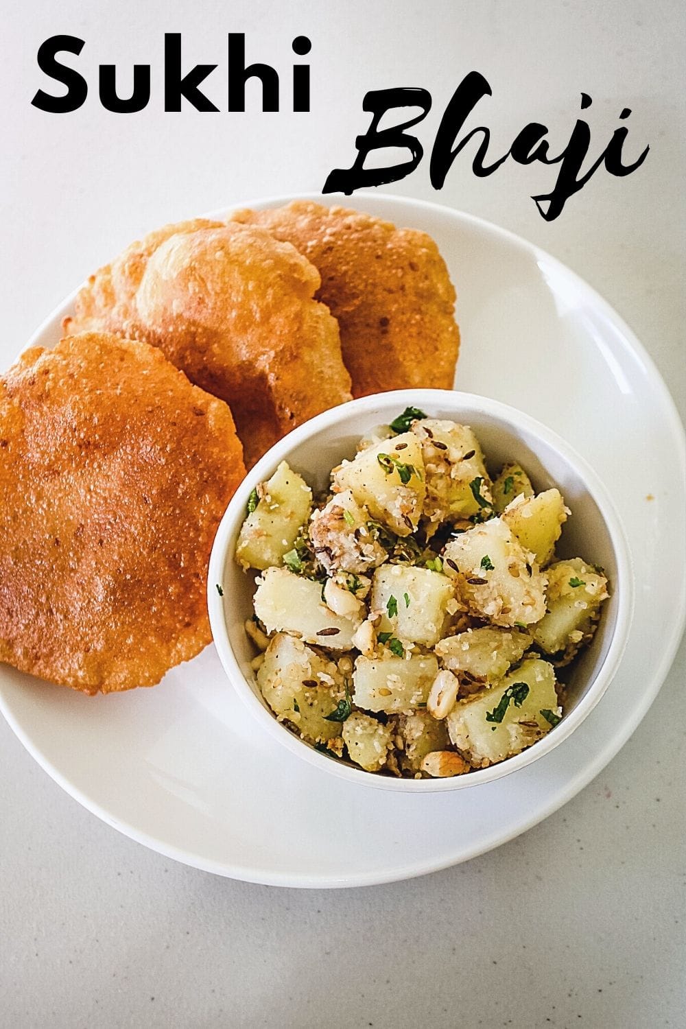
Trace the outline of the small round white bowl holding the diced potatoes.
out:
<instances>
[{"instance_id":1,"label":"small round white bowl holding the diced potatoes","mask_svg":"<svg viewBox=\"0 0 686 1029\"><path fill-rule=\"evenodd\" d=\"M315 488L326 488L329 472L368 429L387 424L406 406L432 418L470 425L483 447L486 462L498 467L506 459L520 461L537 490L559 488L572 517L558 545L562 557L581 556L607 571L611 598L591 645L574 665L561 722L527 750L499 765L449 779L396 779L365 772L336 760L303 742L277 721L263 701L250 662L255 655L244 623L253 613L254 576L236 563L234 548L254 487L268 478L280 461ZM221 583L223 596L217 583ZM449 390L396 390L362 397L318 415L273 447L248 472L219 525L208 578L212 634L233 687L257 721L283 746L325 772L350 782L400 792L464 789L510 775L531 765L566 740L595 707L621 659L633 613L634 577L619 518L600 478L573 449L529 415L497 400Z\"/></svg>"}]
</instances>

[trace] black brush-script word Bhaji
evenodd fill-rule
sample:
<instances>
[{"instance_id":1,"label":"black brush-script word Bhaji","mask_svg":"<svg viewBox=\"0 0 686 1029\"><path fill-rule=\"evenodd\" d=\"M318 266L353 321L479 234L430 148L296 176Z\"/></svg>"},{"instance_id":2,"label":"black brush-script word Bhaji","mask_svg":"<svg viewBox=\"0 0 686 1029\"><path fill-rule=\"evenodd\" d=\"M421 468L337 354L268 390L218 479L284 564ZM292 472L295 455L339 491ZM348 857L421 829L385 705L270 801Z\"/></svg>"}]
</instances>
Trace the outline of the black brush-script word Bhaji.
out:
<instances>
[{"instance_id":1,"label":"black brush-script word Bhaji","mask_svg":"<svg viewBox=\"0 0 686 1029\"><path fill-rule=\"evenodd\" d=\"M462 138L459 134L474 110L476 104L484 96L492 96L492 90L486 79L479 72L472 71L464 77L450 98L441 122L436 133L430 158L430 177L434 189L441 189L445 182L453 162L460 151L477 134L481 134L476 154L472 159L472 170L479 178L492 175L511 157L519 165L531 165L540 162L544 165L559 165L557 178L550 192L532 197L539 213L546 221L553 221L562 214L565 204L575 192L578 192L598 171L601 166L610 175L630 175L640 168L646 159L650 147L630 164L622 163L622 147L628 130L621 127L612 135L609 143L584 172L583 163L590 147L590 128L581 118L577 119L565 149L556 156L549 155L549 144L545 139L548 129L544 125L532 121L517 134L507 153L486 164L491 133L485 126L470 130ZM592 103L588 94L581 94L582 110ZM349 169L336 168L331 171L324 183L323 192L344 192L350 194L356 189L378 186L388 182L397 182L405 178L419 166L424 156L424 148L417 136L406 132L422 121L431 109L432 99L428 90L421 87L401 86L390 90L374 90L365 95L362 109L371 112L371 121L366 133L358 136L355 146L358 154ZM384 115L397 108L414 107L420 113L406 121L391 126L388 129L378 128ZM619 117L627 118L630 109L625 107ZM407 159L383 168L365 168L365 159L374 150L387 147L401 148L409 152ZM544 205L547 203L547 207Z\"/></svg>"}]
</instances>

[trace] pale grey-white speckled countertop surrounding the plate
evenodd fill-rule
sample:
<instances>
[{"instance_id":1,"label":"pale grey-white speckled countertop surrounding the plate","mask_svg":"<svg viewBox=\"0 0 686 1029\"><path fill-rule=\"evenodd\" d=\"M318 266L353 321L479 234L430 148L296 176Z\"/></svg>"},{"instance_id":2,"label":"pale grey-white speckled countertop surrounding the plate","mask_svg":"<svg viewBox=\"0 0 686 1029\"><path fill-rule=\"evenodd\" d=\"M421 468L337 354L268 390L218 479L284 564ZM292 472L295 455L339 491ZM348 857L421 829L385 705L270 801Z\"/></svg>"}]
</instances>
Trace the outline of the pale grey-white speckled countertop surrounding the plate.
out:
<instances>
[{"instance_id":1,"label":"pale grey-white speckled countertop surrounding the plate","mask_svg":"<svg viewBox=\"0 0 686 1029\"><path fill-rule=\"evenodd\" d=\"M127 0L94 2L86 13L75 0L55 9L14 5L5 14L0 115L0 367L132 239L233 202L321 189L331 168L352 164L354 137L367 125L364 93L422 85L434 100L416 130L427 156L386 188L478 214L566 261L635 329L683 417L680 6ZM306 34L312 112L255 113L253 94L252 113L165 114L165 31L182 33L189 66L220 65L208 85L218 104L227 32L246 32L249 60L283 69L286 97L290 41ZM30 105L36 88L47 87L35 52L58 33L85 40L74 63L91 86L85 105L65 115ZM144 112L100 108L96 68L115 62L122 74L133 62L152 63ZM477 111L494 153L530 120L550 127L558 152L583 91L593 98L583 115L591 155L628 106L625 161L648 142L645 165L623 179L598 172L553 222L530 199L550 187L550 168L508 163L479 179L463 152L435 192L431 130L473 69L493 88ZM232 882L147 851L64 793L2 722L0 1022L16 1029L683 1024L685 654L682 642L631 740L545 822L445 872L347 891Z\"/></svg>"}]
</instances>

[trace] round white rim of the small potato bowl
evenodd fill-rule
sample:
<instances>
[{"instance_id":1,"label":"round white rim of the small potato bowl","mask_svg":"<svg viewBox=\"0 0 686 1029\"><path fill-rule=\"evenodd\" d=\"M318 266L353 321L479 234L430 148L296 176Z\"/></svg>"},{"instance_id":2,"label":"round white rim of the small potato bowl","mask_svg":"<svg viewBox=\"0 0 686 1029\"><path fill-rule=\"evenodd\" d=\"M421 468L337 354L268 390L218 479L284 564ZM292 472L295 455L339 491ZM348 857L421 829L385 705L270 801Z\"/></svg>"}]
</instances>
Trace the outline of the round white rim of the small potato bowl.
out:
<instances>
[{"instance_id":1,"label":"round white rim of the small potato bowl","mask_svg":"<svg viewBox=\"0 0 686 1029\"><path fill-rule=\"evenodd\" d=\"M614 631L607 653L593 681L574 710L566 715L549 733L546 733L541 740L519 754L491 765L489 768L477 769L468 775L445 779L404 779L365 772L364 769L354 768L315 750L310 744L295 736L286 725L277 721L272 712L255 696L243 673L233 652L226 627L225 600L216 589L216 583L222 582L224 568L229 557L232 556L232 548L245 519L246 505L252 490L258 483L268 478L281 461L288 460L290 453L303 441L312 439L336 423L347 420L351 415L363 414L378 405L402 410L410 404L420 406L422 410L432 405L455 407L456 417L464 417L465 420L468 419L470 413L504 420L512 424L515 429L523 429L540 438L541 441L557 452L579 480L583 482L594 501L607 527L616 562L615 596L617 608ZM350 400L322 412L275 443L248 471L231 497L215 535L208 569L208 612L214 643L229 682L253 716L282 746L306 760L311 766L358 785L401 793L445 792L493 782L532 765L568 739L590 714L610 685L626 647L634 614L634 573L621 519L602 480L590 464L556 432L532 418L531 415L510 404L477 393L441 389L391 390Z\"/></svg>"}]
</instances>

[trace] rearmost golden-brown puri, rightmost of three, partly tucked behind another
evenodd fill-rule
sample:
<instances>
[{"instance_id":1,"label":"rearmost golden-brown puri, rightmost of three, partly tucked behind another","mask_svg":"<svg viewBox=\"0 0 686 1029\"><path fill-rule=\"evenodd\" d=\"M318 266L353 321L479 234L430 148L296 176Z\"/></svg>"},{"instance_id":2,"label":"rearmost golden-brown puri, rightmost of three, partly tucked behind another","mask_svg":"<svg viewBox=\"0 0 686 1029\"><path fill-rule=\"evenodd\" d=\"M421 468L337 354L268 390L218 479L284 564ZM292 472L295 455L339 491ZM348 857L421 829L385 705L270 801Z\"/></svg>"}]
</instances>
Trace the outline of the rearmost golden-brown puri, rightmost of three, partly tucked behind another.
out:
<instances>
[{"instance_id":1,"label":"rearmost golden-brown puri, rightmost of three, partly tucked behind another","mask_svg":"<svg viewBox=\"0 0 686 1029\"><path fill-rule=\"evenodd\" d=\"M430 236L309 201L238 211L233 218L292 243L319 270L317 297L338 319L355 396L453 388L460 346L456 294Z\"/></svg>"}]
</instances>

